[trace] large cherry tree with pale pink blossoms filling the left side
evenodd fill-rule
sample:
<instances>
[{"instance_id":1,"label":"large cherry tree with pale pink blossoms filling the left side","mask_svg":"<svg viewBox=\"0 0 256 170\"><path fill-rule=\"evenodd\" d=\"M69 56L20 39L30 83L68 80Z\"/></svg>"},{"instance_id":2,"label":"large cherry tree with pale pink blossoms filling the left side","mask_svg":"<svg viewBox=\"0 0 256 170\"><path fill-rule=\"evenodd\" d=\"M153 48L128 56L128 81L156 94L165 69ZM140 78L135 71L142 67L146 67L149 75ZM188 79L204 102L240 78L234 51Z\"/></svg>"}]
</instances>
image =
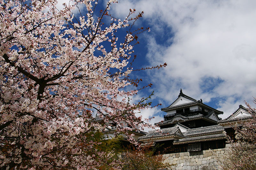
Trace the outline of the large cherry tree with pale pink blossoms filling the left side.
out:
<instances>
[{"instance_id":1,"label":"large cherry tree with pale pink blossoms filling the left side","mask_svg":"<svg viewBox=\"0 0 256 170\"><path fill-rule=\"evenodd\" d=\"M131 9L116 19L109 14L113 0L98 13L94 0L70 1L63 9L56 0L0 3L2 169L97 169L106 153L95 147L95 132L110 120L123 133L148 126L134 113L150 107L148 98L132 103L138 90L125 90L141 81L129 74L141 69L132 63L138 34L149 31L134 29L142 13L133 16Z\"/></svg>"}]
</instances>

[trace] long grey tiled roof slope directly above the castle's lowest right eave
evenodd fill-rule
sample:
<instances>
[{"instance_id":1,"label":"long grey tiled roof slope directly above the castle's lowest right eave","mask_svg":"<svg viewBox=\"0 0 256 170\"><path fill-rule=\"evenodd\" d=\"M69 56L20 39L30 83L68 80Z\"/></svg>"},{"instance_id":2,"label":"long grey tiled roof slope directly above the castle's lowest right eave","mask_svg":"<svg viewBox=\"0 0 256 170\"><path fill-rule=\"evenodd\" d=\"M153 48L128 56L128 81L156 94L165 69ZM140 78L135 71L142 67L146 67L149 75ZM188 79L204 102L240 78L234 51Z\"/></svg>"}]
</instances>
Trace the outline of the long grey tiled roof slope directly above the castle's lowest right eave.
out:
<instances>
[{"instance_id":1,"label":"long grey tiled roof slope directly above the castle's lowest right eave","mask_svg":"<svg viewBox=\"0 0 256 170\"><path fill-rule=\"evenodd\" d=\"M199 135L199 134L206 134L206 133L214 133L214 132L222 132L224 131L224 127L221 125L213 125L195 129L188 129L187 131L183 132L184 136L192 136L192 135Z\"/></svg>"}]
</instances>

